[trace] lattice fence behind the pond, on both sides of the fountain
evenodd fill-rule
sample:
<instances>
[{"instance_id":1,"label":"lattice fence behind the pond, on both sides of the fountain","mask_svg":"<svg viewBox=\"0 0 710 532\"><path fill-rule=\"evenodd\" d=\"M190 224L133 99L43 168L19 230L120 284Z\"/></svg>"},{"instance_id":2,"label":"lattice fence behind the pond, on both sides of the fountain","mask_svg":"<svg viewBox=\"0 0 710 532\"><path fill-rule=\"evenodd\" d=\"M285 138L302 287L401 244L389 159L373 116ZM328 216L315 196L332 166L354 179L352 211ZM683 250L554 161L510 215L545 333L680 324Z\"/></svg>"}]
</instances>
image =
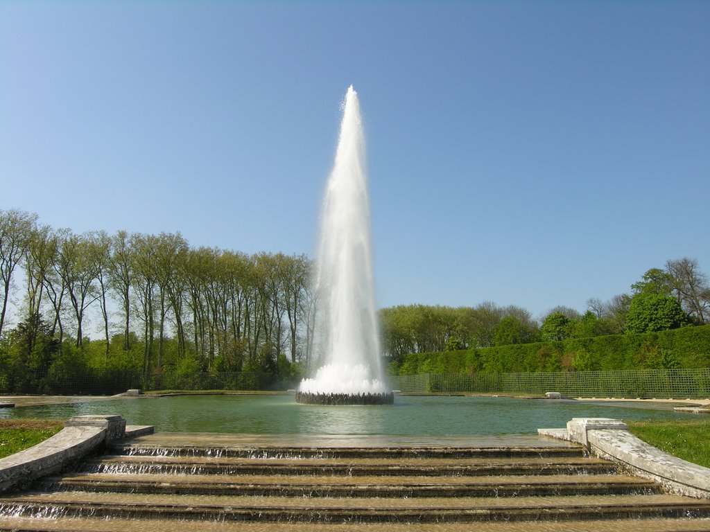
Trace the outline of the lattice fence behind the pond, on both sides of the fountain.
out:
<instances>
[{"instance_id":1,"label":"lattice fence behind the pond, on both sides of the fountain","mask_svg":"<svg viewBox=\"0 0 710 532\"><path fill-rule=\"evenodd\" d=\"M297 382L279 381L259 372L163 372L146 379L122 370L1 371L0 394L118 394L143 390L285 390ZM425 373L387 377L391 389L404 393L559 392L568 397L639 397L706 399L710 368L697 370L627 370L559 373Z\"/></svg>"}]
</instances>

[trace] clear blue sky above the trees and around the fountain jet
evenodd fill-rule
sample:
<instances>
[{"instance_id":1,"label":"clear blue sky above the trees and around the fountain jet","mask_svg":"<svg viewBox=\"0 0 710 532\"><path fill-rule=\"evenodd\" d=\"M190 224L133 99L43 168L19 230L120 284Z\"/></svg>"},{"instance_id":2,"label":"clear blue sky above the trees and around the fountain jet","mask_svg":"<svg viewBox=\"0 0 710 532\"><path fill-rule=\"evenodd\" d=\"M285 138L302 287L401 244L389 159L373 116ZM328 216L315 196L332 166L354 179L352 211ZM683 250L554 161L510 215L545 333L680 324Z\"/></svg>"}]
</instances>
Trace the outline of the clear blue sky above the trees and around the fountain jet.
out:
<instances>
[{"instance_id":1,"label":"clear blue sky above the trees and around the fountain jet","mask_svg":"<svg viewBox=\"0 0 710 532\"><path fill-rule=\"evenodd\" d=\"M313 255L359 92L378 304L710 274L709 1L0 0L0 209Z\"/></svg>"}]
</instances>

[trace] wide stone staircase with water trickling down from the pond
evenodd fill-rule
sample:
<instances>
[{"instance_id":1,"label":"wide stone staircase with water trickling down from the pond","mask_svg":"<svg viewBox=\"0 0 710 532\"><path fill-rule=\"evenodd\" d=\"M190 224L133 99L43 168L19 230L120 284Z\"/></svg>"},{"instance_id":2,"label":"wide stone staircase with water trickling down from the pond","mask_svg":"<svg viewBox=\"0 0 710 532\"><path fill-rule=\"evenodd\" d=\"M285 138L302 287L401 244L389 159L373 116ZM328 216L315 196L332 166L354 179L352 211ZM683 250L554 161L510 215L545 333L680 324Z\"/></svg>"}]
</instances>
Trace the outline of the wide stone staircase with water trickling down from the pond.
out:
<instances>
[{"instance_id":1,"label":"wide stone staircase with water trickling down from the pond","mask_svg":"<svg viewBox=\"0 0 710 532\"><path fill-rule=\"evenodd\" d=\"M287 440L115 444L0 498L0 530L710 530L709 500L664 494L581 447L544 438L484 446Z\"/></svg>"}]
</instances>

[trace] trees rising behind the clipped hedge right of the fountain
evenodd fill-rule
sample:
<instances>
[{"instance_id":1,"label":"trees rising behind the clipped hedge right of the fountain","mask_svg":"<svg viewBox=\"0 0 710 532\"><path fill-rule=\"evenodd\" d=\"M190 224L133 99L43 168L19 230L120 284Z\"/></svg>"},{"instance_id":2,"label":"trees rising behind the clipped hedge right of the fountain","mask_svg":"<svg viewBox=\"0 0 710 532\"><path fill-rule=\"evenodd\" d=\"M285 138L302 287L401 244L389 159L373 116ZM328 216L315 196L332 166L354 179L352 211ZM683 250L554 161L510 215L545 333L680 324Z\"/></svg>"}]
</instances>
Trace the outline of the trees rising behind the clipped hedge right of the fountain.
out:
<instances>
[{"instance_id":1,"label":"trees rising behind the clipped hedge right of the fountain","mask_svg":"<svg viewBox=\"0 0 710 532\"><path fill-rule=\"evenodd\" d=\"M557 306L540 321L519 306L408 305L381 310L383 349L393 358L541 341L667 331L710 319L710 284L697 260L668 260L609 301L591 298L586 312Z\"/></svg>"}]
</instances>

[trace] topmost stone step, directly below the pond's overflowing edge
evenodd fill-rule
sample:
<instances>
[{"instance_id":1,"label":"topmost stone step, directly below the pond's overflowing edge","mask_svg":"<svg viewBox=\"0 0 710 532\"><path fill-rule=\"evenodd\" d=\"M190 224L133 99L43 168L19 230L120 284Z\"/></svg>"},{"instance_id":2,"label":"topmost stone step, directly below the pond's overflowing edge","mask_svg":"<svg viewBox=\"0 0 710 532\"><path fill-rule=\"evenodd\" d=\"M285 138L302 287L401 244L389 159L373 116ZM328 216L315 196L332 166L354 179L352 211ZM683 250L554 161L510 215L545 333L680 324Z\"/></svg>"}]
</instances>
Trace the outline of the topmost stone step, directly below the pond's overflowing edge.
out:
<instances>
[{"instance_id":1,"label":"topmost stone step, directly below the pond's overflowing edge","mask_svg":"<svg viewBox=\"0 0 710 532\"><path fill-rule=\"evenodd\" d=\"M143 443L111 445L112 455L165 456L208 458L566 458L585 455L581 445L525 446L525 447L300 447L297 445L270 446L156 446Z\"/></svg>"}]
</instances>

